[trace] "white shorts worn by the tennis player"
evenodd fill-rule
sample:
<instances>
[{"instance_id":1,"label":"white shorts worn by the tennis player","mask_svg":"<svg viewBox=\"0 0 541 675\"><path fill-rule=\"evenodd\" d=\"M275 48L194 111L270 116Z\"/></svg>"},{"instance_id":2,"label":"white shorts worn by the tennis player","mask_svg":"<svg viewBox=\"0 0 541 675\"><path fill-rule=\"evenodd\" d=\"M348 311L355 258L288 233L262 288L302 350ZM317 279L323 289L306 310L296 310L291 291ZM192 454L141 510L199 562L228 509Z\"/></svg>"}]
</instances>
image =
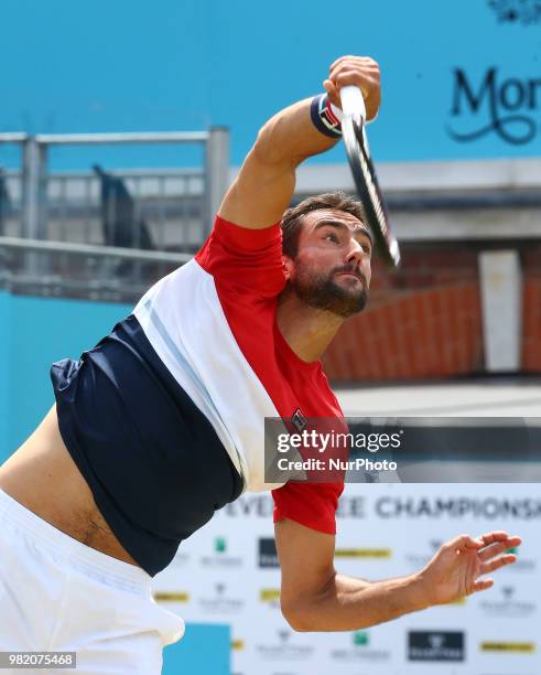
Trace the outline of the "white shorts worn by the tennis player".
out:
<instances>
[{"instance_id":1,"label":"white shorts worn by the tennis player","mask_svg":"<svg viewBox=\"0 0 541 675\"><path fill-rule=\"evenodd\" d=\"M57 673L155 675L162 647L183 634L144 570L73 539L0 490L0 651L76 652L77 669ZM23 672L39 671L13 671Z\"/></svg>"}]
</instances>

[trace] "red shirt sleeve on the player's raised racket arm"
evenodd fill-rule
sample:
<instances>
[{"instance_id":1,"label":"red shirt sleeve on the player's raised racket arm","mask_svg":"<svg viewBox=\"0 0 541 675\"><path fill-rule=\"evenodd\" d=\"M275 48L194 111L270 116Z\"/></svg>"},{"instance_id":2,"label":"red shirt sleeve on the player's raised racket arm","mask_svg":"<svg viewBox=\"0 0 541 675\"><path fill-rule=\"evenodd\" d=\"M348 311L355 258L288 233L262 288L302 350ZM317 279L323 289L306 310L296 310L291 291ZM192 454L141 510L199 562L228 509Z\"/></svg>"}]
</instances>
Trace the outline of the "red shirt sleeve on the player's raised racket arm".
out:
<instances>
[{"instance_id":1,"label":"red shirt sleeve on the player's raised racket arm","mask_svg":"<svg viewBox=\"0 0 541 675\"><path fill-rule=\"evenodd\" d=\"M246 287L263 297L275 297L285 286L279 223L248 229L216 216L214 229L195 259L217 281Z\"/></svg>"}]
</instances>

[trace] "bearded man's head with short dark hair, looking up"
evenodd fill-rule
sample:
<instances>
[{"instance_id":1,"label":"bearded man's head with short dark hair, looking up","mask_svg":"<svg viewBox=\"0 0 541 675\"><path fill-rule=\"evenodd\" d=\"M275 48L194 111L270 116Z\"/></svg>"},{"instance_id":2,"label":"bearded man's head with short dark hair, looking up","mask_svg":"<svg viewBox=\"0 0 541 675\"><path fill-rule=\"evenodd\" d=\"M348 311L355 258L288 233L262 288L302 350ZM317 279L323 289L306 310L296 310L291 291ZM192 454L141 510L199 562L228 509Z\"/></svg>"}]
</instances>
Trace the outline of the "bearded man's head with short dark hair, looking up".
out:
<instances>
[{"instance_id":1,"label":"bearded man's head with short dark hair, looking up","mask_svg":"<svg viewBox=\"0 0 541 675\"><path fill-rule=\"evenodd\" d=\"M344 319L364 309L372 236L359 202L342 192L309 197L284 213L282 235L289 288L303 302Z\"/></svg>"}]
</instances>

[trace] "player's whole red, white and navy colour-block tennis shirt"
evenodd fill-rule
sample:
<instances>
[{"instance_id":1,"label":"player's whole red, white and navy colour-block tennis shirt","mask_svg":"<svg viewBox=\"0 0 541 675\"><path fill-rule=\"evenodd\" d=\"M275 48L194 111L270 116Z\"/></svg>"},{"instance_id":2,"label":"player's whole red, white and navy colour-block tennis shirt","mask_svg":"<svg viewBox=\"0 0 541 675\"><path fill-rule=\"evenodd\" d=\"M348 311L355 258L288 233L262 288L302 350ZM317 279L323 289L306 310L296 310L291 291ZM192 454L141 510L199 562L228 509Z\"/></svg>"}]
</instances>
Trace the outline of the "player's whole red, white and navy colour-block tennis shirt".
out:
<instances>
[{"instance_id":1,"label":"player's whole red, white and navy colour-block tennis shirt","mask_svg":"<svg viewBox=\"0 0 541 675\"><path fill-rule=\"evenodd\" d=\"M274 521L334 534L343 482L270 484L264 419L343 418L320 362L277 325L279 225L216 219L193 260L155 283L78 361L53 364L58 425L107 523L153 575L245 491Z\"/></svg>"}]
</instances>

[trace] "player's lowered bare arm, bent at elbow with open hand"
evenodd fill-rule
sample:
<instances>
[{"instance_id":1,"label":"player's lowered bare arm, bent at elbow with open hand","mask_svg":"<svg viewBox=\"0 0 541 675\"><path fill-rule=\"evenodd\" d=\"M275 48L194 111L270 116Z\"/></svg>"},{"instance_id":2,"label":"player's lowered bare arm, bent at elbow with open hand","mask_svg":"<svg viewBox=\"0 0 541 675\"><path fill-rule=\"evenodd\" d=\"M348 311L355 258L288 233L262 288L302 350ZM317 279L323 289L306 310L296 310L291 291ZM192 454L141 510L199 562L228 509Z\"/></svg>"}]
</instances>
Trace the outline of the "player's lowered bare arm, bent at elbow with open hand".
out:
<instances>
[{"instance_id":1,"label":"player's lowered bare arm, bent at elbow with open hand","mask_svg":"<svg viewBox=\"0 0 541 675\"><path fill-rule=\"evenodd\" d=\"M282 613L297 631L359 630L486 590L494 581L478 577L513 562L513 555L500 554L520 544L505 532L478 539L462 535L444 544L423 570L368 582L336 572L333 535L285 518L275 524L275 537Z\"/></svg>"}]
</instances>

